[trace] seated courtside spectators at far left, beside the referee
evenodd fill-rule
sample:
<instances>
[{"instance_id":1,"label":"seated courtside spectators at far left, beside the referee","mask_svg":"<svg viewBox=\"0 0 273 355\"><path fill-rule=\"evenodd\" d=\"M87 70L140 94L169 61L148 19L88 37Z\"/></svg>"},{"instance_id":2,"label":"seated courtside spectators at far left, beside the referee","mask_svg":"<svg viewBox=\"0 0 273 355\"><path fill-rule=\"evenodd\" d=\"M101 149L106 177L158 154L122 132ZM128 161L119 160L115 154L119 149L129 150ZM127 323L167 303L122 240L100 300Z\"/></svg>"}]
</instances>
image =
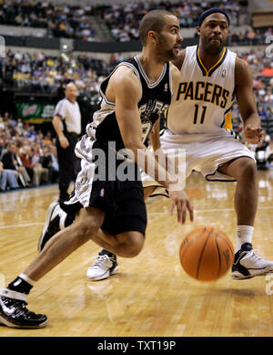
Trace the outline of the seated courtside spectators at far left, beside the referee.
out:
<instances>
[{"instance_id":1,"label":"seated courtside spectators at far left, beside the referee","mask_svg":"<svg viewBox=\"0 0 273 355\"><path fill-rule=\"evenodd\" d=\"M52 132L0 115L0 191L56 183L58 162Z\"/></svg>"}]
</instances>

